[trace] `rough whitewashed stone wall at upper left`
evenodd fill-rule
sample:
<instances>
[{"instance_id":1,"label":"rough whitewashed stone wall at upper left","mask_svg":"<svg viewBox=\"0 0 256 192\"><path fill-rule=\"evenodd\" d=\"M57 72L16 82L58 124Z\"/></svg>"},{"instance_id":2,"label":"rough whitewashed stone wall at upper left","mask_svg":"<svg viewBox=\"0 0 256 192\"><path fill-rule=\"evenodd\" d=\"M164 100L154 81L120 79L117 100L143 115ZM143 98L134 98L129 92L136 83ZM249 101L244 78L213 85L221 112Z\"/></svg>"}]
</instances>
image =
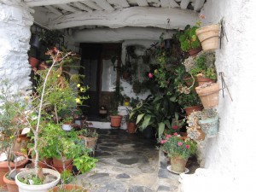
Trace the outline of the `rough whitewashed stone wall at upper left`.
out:
<instances>
[{"instance_id":1,"label":"rough whitewashed stone wall at upper left","mask_svg":"<svg viewBox=\"0 0 256 192\"><path fill-rule=\"evenodd\" d=\"M27 51L33 18L20 1L3 1L0 10L0 79L9 79L13 90L26 91L32 84Z\"/></svg>"}]
</instances>

